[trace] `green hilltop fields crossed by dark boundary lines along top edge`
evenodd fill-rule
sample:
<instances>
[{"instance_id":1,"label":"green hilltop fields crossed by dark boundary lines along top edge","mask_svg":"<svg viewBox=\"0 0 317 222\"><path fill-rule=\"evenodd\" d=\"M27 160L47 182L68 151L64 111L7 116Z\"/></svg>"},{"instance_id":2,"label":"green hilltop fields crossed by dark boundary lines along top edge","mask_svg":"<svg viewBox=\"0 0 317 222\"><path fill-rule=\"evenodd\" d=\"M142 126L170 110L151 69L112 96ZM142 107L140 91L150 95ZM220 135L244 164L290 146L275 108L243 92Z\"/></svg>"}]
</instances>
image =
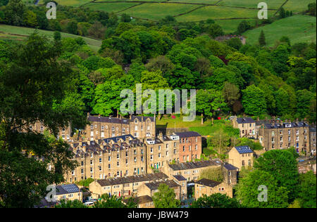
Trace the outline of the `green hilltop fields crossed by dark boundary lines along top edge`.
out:
<instances>
[{"instance_id":1,"label":"green hilltop fields crossed by dark boundary lines along top edge","mask_svg":"<svg viewBox=\"0 0 317 222\"><path fill-rule=\"evenodd\" d=\"M27 0L25 0L27 1ZM305 11L307 5L316 0L267 0L268 16L277 13L280 6L294 13ZM254 24L259 9L258 0L56 0L64 6L80 6L93 10L126 13L135 18L160 20L173 15L180 22L216 20L225 33L235 32L242 20ZM39 1L41 4L42 1Z\"/></svg>"}]
</instances>

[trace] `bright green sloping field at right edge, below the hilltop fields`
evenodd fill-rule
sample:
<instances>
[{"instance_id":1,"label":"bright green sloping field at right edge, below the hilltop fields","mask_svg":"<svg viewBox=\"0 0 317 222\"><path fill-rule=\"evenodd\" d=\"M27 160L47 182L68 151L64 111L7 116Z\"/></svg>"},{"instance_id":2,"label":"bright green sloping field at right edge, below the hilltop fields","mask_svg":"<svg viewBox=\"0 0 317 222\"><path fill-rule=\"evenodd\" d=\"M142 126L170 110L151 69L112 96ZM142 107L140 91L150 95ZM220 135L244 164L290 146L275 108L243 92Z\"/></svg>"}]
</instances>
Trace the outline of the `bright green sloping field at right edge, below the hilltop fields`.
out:
<instances>
[{"instance_id":1,"label":"bright green sloping field at right edge, below the hilltop fields","mask_svg":"<svg viewBox=\"0 0 317 222\"><path fill-rule=\"evenodd\" d=\"M316 42L316 17L309 15L294 15L277 20L270 25L258 27L244 32L247 44L257 44L259 35L263 30L266 37L266 45L273 46L280 37L290 38L291 44L297 42Z\"/></svg>"}]
</instances>

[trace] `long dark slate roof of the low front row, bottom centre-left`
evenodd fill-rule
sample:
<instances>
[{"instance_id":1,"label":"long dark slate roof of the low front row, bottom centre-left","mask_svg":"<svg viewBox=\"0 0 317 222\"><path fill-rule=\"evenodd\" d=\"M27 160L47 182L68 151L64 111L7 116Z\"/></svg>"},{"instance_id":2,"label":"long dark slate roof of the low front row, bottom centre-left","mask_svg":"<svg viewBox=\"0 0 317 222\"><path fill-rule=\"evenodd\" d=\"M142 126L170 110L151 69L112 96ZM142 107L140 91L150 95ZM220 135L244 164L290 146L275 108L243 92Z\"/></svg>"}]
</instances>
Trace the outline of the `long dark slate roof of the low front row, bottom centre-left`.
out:
<instances>
[{"instance_id":1,"label":"long dark slate roof of the low front row, bottom centre-left","mask_svg":"<svg viewBox=\"0 0 317 222\"><path fill-rule=\"evenodd\" d=\"M135 175L135 176L108 178L104 180L97 180L97 183L99 183L102 187L104 187L108 185L118 185L118 184L124 184L124 183L159 181L159 180L165 180L167 178L168 176L166 176L166 174L163 174L160 172L156 174L141 174L141 175Z\"/></svg>"}]
</instances>

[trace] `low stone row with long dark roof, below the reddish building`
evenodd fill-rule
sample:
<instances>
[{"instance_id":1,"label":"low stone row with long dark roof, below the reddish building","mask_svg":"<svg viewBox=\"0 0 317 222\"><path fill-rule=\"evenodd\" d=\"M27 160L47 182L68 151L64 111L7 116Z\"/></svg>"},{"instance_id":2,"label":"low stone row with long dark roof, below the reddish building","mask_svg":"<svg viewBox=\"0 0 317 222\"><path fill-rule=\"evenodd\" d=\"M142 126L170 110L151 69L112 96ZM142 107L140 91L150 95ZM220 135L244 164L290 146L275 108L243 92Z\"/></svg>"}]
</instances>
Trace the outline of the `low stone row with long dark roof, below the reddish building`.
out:
<instances>
[{"instance_id":1,"label":"low stone row with long dark roof, below the reddish building","mask_svg":"<svg viewBox=\"0 0 317 222\"><path fill-rule=\"evenodd\" d=\"M175 175L181 175L189 182L197 181L201 175L201 171L217 168L220 165L221 163L217 160L168 164L166 167L163 167L163 172L168 175L169 178L173 178Z\"/></svg>"}]
</instances>

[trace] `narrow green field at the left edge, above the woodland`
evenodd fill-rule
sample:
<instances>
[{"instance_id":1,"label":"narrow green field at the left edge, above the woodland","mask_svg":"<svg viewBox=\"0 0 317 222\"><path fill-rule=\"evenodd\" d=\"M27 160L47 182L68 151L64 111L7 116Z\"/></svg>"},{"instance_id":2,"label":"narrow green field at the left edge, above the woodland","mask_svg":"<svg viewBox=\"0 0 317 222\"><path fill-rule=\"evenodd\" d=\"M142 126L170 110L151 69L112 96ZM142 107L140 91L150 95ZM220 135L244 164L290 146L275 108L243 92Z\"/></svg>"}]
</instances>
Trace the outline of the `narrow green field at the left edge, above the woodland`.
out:
<instances>
[{"instance_id":1,"label":"narrow green field at the left edge, above the woodland","mask_svg":"<svg viewBox=\"0 0 317 222\"><path fill-rule=\"evenodd\" d=\"M0 39L12 39L17 41L23 41L27 36L32 34L35 29L28 27L16 27L11 25L0 25ZM54 32L46 30L38 30L39 34L44 34L50 39L53 39ZM75 34L68 34L61 32L61 37L77 38L79 36ZM90 39L87 37L82 37L87 45L92 48L93 51L98 51L101 46L101 40Z\"/></svg>"}]
</instances>

